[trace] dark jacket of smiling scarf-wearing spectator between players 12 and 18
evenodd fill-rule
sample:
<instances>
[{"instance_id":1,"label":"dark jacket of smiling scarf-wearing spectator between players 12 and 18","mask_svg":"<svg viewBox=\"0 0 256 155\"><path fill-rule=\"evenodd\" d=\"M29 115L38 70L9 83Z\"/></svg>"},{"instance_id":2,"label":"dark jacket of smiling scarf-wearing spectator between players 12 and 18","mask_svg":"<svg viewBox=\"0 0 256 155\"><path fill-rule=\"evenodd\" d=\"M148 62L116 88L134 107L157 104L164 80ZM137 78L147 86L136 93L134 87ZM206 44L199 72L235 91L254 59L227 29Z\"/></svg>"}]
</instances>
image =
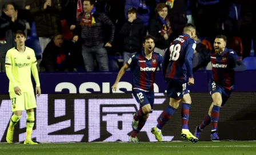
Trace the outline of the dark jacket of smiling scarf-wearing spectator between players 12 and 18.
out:
<instances>
[{"instance_id":1,"label":"dark jacket of smiling scarf-wearing spectator between players 12 and 18","mask_svg":"<svg viewBox=\"0 0 256 155\"><path fill-rule=\"evenodd\" d=\"M163 50L169 47L170 41L169 39L165 40L161 35L160 31L162 30L162 27L163 22L158 18L158 16L151 19L149 23L149 34L155 37L155 47Z\"/></svg>"}]
</instances>

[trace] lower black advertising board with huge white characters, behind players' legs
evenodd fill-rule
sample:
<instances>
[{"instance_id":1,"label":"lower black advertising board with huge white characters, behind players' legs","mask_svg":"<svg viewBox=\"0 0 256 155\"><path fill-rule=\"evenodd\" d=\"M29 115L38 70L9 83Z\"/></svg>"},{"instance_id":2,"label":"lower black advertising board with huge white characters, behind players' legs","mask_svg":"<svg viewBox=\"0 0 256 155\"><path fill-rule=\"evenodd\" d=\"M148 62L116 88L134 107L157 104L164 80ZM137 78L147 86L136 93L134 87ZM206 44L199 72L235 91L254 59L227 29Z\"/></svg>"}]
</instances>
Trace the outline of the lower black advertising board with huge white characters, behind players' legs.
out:
<instances>
[{"instance_id":1,"label":"lower black advertising board with huge white characters, behind players' legs","mask_svg":"<svg viewBox=\"0 0 256 155\"><path fill-rule=\"evenodd\" d=\"M191 93L189 129L199 125L211 104L209 93ZM155 93L154 111L138 134L139 141L156 141L150 129L157 125L169 99ZM181 106L180 106L181 107ZM131 93L42 94L37 97L32 137L48 142L128 141L133 113L139 108ZM163 140L181 140L181 109L163 128ZM221 109L218 133L221 140L256 140L256 92L234 92ZM11 117L9 95L0 96L0 140ZM26 112L15 126L14 141L26 136ZM199 140L210 140L210 125Z\"/></svg>"}]
</instances>

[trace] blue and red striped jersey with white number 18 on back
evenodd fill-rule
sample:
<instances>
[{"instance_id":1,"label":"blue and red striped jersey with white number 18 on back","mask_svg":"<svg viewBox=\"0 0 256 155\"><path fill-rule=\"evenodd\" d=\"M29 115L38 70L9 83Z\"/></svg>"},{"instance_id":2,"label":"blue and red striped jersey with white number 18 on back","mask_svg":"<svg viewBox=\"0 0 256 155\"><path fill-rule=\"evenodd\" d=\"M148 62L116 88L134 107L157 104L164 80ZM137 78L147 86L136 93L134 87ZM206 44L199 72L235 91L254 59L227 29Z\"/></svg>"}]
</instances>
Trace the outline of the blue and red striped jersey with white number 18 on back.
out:
<instances>
[{"instance_id":1,"label":"blue and red striped jersey with white number 18 on back","mask_svg":"<svg viewBox=\"0 0 256 155\"><path fill-rule=\"evenodd\" d=\"M163 58L163 74L165 78L185 79L193 77L192 60L195 51L195 40L190 35L178 36L165 52Z\"/></svg>"}]
</instances>

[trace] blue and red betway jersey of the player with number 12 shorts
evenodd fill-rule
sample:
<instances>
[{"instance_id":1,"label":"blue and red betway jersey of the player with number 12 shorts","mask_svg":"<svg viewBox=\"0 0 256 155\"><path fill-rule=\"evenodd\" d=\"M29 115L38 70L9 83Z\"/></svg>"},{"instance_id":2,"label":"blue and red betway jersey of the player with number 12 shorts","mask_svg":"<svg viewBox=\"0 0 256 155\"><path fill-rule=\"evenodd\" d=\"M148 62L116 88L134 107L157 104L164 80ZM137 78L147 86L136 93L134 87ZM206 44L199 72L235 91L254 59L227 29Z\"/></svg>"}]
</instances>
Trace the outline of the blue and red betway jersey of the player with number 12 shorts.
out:
<instances>
[{"instance_id":1,"label":"blue and red betway jersey of the player with number 12 shorts","mask_svg":"<svg viewBox=\"0 0 256 155\"><path fill-rule=\"evenodd\" d=\"M153 52L151 59L147 60L144 51L138 52L131 56L126 64L133 71L133 89L154 91L155 72L157 67L162 67L162 56L160 54Z\"/></svg>"}]
</instances>

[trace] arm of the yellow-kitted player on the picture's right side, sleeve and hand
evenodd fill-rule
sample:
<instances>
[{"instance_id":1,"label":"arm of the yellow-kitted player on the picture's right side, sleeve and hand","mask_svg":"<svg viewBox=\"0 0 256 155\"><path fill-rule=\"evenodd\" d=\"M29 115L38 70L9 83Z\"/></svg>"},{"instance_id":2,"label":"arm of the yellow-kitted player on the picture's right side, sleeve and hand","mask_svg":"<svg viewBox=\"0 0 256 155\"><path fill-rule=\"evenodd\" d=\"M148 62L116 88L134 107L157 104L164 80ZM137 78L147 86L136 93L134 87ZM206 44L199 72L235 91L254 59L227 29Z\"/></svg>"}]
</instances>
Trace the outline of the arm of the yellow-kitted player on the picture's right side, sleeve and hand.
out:
<instances>
[{"instance_id":1,"label":"arm of the yellow-kitted player on the picture's right side, sleeve and hand","mask_svg":"<svg viewBox=\"0 0 256 155\"><path fill-rule=\"evenodd\" d=\"M31 71L33 74L33 77L35 79L35 93L37 93L38 96L41 95L41 88L40 88L40 81L39 81L39 75L37 70L37 58L35 58L35 52L33 51L31 55Z\"/></svg>"}]
</instances>

